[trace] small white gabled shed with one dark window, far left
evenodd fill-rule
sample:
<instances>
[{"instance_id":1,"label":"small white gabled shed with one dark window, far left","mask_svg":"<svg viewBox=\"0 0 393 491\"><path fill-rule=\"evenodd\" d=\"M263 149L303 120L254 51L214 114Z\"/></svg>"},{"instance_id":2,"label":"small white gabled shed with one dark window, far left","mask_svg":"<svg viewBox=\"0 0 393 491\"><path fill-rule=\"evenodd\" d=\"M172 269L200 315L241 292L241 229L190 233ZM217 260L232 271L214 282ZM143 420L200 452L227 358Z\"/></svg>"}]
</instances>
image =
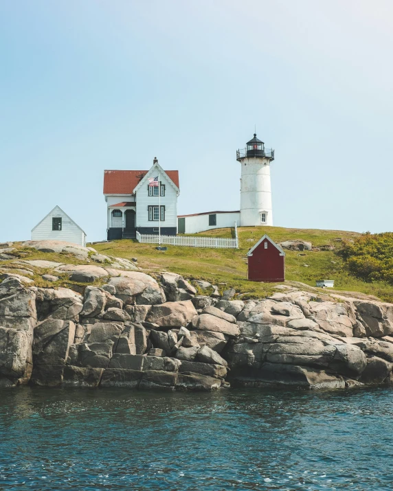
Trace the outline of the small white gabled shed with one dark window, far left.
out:
<instances>
[{"instance_id":1,"label":"small white gabled shed with one dark window, far left","mask_svg":"<svg viewBox=\"0 0 393 491\"><path fill-rule=\"evenodd\" d=\"M32 229L32 240L63 240L86 247L86 233L58 206Z\"/></svg>"}]
</instances>

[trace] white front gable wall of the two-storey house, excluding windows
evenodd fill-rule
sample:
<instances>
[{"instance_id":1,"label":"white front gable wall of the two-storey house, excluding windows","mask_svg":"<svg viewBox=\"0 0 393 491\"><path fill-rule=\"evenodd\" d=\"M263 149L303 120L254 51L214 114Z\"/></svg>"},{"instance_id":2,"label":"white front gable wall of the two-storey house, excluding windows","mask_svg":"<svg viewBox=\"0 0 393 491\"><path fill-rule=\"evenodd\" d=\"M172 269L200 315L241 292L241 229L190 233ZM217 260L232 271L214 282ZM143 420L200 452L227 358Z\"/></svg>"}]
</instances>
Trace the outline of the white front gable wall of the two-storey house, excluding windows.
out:
<instances>
[{"instance_id":1,"label":"white front gable wall of the two-storey house, excluding windows","mask_svg":"<svg viewBox=\"0 0 393 491\"><path fill-rule=\"evenodd\" d=\"M155 174L155 175L153 175ZM149 177L157 176L157 169L148 172ZM161 206L165 206L165 221L161 222L161 227L177 227L177 191L166 175L159 174L161 183L165 184L165 196L161 196ZM148 195L148 181L144 181L137 190L137 227L158 227L158 221L148 220L148 206L158 206L159 196Z\"/></svg>"}]
</instances>

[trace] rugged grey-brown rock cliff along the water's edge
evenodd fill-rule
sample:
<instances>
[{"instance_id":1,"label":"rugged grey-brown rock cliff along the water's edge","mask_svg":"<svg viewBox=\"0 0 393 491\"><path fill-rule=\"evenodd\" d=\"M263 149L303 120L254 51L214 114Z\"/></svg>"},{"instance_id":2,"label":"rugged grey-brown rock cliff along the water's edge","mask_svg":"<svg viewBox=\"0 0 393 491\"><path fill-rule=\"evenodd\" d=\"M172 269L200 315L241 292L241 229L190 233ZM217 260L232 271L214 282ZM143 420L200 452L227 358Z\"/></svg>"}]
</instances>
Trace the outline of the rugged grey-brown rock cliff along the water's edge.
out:
<instances>
[{"instance_id":1,"label":"rugged grey-brown rock cliff along the water's edge","mask_svg":"<svg viewBox=\"0 0 393 491\"><path fill-rule=\"evenodd\" d=\"M0 386L212 390L391 383L393 305L289 288L197 295L179 275L113 271L84 295L0 284Z\"/></svg>"}]
</instances>

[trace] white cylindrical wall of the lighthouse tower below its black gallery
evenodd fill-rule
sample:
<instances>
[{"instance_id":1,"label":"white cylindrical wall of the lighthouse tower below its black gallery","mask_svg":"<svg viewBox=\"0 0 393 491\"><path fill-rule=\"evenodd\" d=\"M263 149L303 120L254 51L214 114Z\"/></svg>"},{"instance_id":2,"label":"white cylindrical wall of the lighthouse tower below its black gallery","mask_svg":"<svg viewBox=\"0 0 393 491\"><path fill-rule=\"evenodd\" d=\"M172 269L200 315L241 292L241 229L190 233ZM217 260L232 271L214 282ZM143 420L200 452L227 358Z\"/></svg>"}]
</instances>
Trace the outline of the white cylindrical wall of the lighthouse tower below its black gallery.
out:
<instances>
[{"instance_id":1,"label":"white cylindrical wall of the lighthouse tower below its black gallery","mask_svg":"<svg viewBox=\"0 0 393 491\"><path fill-rule=\"evenodd\" d=\"M240 226L273 225L270 160L267 157L246 157L241 165ZM260 221L261 212L267 214L265 223Z\"/></svg>"}]
</instances>

